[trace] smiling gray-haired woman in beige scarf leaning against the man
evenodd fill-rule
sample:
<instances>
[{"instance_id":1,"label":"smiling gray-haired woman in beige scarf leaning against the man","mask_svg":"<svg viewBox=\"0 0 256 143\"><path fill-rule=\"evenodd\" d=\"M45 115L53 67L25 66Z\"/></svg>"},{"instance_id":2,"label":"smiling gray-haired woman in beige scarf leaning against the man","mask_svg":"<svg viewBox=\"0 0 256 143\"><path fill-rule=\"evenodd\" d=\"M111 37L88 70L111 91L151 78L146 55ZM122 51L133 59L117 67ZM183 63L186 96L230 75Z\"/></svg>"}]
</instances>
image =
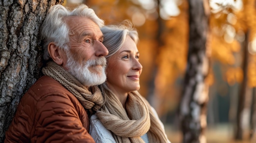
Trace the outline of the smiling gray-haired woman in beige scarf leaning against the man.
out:
<instances>
[{"instance_id":1,"label":"smiling gray-haired woman in beige scarf leaning against the man","mask_svg":"<svg viewBox=\"0 0 256 143\"><path fill-rule=\"evenodd\" d=\"M139 90L138 33L126 20L101 28L109 51L107 81L101 85L105 104L90 119L96 143L169 143L155 110Z\"/></svg>"}]
</instances>

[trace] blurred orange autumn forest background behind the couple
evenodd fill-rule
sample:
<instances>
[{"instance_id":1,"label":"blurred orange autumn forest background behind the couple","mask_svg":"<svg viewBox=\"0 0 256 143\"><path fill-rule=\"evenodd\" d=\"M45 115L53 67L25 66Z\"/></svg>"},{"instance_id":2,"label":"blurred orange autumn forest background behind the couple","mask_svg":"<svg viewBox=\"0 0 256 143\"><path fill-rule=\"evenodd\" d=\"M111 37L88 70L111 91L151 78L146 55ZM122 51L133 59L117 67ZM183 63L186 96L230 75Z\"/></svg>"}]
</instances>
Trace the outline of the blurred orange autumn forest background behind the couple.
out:
<instances>
[{"instance_id":1,"label":"blurred orange autumn forest background behind the couple","mask_svg":"<svg viewBox=\"0 0 256 143\"><path fill-rule=\"evenodd\" d=\"M63 5L72 9L79 3L106 24L128 19L135 25L143 65L140 92L172 143L256 143L256 0Z\"/></svg>"}]
</instances>

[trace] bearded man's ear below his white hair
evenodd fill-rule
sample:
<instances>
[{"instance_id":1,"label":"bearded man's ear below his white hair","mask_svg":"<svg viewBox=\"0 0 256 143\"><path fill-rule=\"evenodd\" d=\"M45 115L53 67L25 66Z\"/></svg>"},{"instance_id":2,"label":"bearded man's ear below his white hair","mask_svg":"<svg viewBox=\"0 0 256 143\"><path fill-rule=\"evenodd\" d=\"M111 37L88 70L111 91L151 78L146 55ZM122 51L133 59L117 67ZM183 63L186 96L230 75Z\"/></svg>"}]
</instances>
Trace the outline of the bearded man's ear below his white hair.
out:
<instances>
[{"instance_id":1,"label":"bearded man's ear below his white hair","mask_svg":"<svg viewBox=\"0 0 256 143\"><path fill-rule=\"evenodd\" d=\"M55 45L54 42L50 42L48 44L48 52L56 64L63 64L63 52L58 48L58 46Z\"/></svg>"}]
</instances>

